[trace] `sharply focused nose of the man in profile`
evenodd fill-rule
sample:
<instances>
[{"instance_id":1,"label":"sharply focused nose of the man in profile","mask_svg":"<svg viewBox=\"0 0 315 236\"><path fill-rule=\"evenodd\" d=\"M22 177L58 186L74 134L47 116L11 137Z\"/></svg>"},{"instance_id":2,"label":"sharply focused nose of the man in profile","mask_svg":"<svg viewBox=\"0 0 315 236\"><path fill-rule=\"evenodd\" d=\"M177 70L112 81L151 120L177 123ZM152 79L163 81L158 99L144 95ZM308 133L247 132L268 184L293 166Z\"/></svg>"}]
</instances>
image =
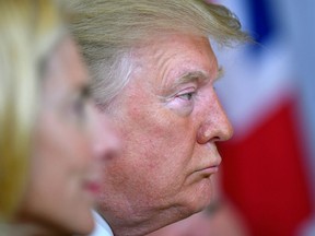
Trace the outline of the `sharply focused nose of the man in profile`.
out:
<instances>
[{"instance_id":1,"label":"sharply focused nose of the man in profile","mask_svg":"<svg viewBox=\"0 0 315 236\"><path fill-rule=\"evenodd\" d=\"M201 121L197 133L197 142L205 144L231 139L233 128L217 94L212 96L205 113L205 120Z\"/></svg>"}]
</instances>

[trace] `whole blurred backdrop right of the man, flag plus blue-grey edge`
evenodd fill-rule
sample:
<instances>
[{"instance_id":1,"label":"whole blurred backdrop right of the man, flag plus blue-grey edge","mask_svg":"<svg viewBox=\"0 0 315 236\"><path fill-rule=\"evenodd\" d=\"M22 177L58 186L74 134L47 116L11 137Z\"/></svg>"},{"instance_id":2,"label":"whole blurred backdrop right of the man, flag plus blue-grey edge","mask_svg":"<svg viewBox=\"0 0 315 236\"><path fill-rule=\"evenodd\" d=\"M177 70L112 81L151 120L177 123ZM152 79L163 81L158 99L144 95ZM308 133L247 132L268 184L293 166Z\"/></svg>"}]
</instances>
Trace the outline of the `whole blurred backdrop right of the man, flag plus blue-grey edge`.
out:
<instances>
[{"instance_id":1,"label":"whole blurred backdrop right of the man, flag plus blue-grey edge","mask_svg":"<svg viewBox=\"0 0 315 236\"><path fill-rule=\"evenodd\" d=\"M215 0L257 42L217 48L234 138L222 188L254 236L315 236L315 1Z\"/></svg>"}]
</instances>

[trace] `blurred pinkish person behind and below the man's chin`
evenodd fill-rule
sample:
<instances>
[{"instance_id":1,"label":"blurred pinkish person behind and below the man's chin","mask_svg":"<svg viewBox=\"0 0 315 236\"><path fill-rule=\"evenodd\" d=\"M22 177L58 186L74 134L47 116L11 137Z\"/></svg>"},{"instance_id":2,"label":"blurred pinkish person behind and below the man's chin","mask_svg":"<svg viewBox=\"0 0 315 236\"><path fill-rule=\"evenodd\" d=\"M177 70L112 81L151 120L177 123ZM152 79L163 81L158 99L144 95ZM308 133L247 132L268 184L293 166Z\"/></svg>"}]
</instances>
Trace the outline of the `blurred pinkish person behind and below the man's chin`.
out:
<instances>
[{"instance_id":1,"label":"blurred pinkish person behind and below the man's chin","mask_svg":"<svg viewBox=\"0 0 315 236\"><path fill-rule=\"evenodd\" d=\"M249 236L245 220L222 194L220 173L211 176L211 204L183 221L167 225L147 236Z\"/></svg>"}]
</instances>

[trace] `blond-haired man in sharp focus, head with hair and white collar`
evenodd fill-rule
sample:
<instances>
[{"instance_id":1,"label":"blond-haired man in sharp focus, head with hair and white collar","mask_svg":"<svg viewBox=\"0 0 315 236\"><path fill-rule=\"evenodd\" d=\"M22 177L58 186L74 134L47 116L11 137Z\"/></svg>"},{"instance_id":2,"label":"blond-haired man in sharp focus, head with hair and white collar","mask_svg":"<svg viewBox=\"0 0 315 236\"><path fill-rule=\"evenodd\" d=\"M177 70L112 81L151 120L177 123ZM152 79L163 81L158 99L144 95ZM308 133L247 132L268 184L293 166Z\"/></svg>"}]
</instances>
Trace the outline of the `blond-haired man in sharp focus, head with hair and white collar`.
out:
<instances>
[{"instance_id":1,"label":"blond-haired man in sharp focus, head with hair and white collar","mask_svg":"<svg viewBox=\"0 0 315 236\"><path fill-rule=\"evenodd\" d=\"M94 235L144 235L203 210L221 163L215 143L232 135L208 37L243 42L240 22L202 0L71 2L93 97L122 140L104 167Z\"/></svg>"}]
</instances>

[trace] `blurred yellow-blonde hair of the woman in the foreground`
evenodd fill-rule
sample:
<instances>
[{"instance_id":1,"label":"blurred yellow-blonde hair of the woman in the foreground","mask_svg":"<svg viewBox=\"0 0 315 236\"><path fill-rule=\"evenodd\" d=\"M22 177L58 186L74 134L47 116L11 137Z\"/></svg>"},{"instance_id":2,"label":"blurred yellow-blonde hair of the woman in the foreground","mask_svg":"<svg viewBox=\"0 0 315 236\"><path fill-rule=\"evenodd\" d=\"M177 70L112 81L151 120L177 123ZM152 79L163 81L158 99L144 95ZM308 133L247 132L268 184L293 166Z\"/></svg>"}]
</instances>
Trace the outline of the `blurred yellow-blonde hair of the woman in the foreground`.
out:
<instances>
[{"instance_id":1,"label":"blurred yellow-blonde hair of the woman in the foreground","mask_svg":"<svg viewBox=\"0 0 315 236\"><path fill-rule=\"evenodd\" d=\"M43 64L61 27L50 0L0 0L0 223L27 181Z\"/></svg>"}]
</instances>

